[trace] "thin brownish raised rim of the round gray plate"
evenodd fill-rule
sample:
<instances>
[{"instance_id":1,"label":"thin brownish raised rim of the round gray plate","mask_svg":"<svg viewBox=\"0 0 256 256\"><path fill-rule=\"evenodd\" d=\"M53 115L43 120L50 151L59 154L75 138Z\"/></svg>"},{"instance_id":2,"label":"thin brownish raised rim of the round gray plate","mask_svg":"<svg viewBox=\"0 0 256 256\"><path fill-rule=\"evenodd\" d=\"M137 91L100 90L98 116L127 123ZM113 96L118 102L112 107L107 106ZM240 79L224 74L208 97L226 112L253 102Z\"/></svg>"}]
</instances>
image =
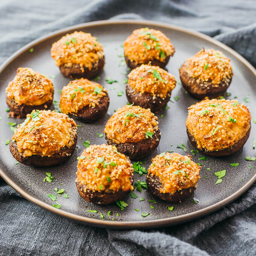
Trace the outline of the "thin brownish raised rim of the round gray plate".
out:
<instances>
[{"instance_id":1,"label":"thin brownish raised rim of the round gray plate","mask_svg":"<svg viewBox=\"0 0 256 256\"><path fill-rule=\"evenodd\" d=\"M151 21L151 20L133 20L133 19L122 19L122 20L100 20L100 21L91 21L87 23L81 23L76 24L73 26L65 27L62 29L55 30L53 32L50 32L46 35L43 35L42 37L37 38L36 40L33 40L32 42L26 44L25 46L21 47L19 50L14 52L6 61L3 62L3 64L0 66L0 73L5 69L5 67L10 64L11 61L13 61L15 58L17 58L19 55L21 55L23 52L28 50L32 46L36 46L37 44L41 43L42 41L48 40L52 37L55 37L56 35L62 34L64 32L69 32L69 30L74 29L84 29L86 27L93 27L93 26L100 26L100 25L117 25L117 24L143 24L147 26L159 26L166 29L171 30L178 30L181 32L184 32L186 34L191 34L195 37L201 38L206 41L210 41L210 43L215 44L216 46L221 47L222 49L225 49L227 52L229 52L231 55L236 57L239 61L241 61L245 66L247 66L248 69L251 70L251 72L254 74L256 78L256 69L248 62L244 57L242 57L239 53L237 53L235 50L231 49L226 44L221 43L218 40L213 39L212 37L209 37L208 35L205 35L201 32L197 32L192 29L187 29L185 27L158 22L158 21ZM240 197L244 192L246 192L256 181L256 173L251 177L251 179L244 184L240 189L238 189L235 193L232 195L229 195L229 197L224 198L223 200L212 204L211 206L207 206L203 209L185 213L183 215L168 217L168 218L162 218L162 219L154 219L154 220L148 220L148 221L108 221L108 220L101 220L101 219L95 219L90 217L85 217L81 215L77 215L75 213L70 213L62 209L57 209L50 204L45 203L44 201L41 201L37 197L34 197L33 195L30 195L28 192L26 192L22 187L18 186L12 179L0 168L0 176L3 178L3 180L6 181L11 187L13 187L20 195L22 195L24 198L29 200L30 202L36 204L37 206L55 213L56 215L59 215L61 217L72 219L76 222L87 224L90 226L95 227L102 227L102 228L110 228L110 229L152 229L152 228L159 228L163 226L173 226L177 225L183 222L192 221L193 219L203 217L205 215L209 215L210 213L215 212L216 210L219 210L223 207L225 207L227 204L235 201L238 197Z\"/></svg>"}]
</instances>

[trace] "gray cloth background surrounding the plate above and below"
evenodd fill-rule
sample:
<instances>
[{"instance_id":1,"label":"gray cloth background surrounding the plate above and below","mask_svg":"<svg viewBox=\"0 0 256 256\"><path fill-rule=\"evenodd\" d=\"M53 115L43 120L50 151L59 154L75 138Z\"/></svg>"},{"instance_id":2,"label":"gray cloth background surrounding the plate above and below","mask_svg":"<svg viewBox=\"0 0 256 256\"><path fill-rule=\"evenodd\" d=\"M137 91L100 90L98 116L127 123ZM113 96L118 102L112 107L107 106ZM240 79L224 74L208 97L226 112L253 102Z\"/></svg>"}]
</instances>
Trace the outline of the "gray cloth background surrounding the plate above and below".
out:
<instances>
[{"instance_id":1,"label":"gray cloth background surrounding the plate above and below","mask_svg":"<svg viewBox=\"0 0 256 256\"><path fill-rule=\"evenodd\" d=\"M147 18L199 30L255 66L255 6L254 1L2 1L0 61L48 32L114 17ZM59 218L0 182L2 255L255 254L255 185L235 203L200 220L169 229L120 232Z\"/></svg>"}]
</instances>

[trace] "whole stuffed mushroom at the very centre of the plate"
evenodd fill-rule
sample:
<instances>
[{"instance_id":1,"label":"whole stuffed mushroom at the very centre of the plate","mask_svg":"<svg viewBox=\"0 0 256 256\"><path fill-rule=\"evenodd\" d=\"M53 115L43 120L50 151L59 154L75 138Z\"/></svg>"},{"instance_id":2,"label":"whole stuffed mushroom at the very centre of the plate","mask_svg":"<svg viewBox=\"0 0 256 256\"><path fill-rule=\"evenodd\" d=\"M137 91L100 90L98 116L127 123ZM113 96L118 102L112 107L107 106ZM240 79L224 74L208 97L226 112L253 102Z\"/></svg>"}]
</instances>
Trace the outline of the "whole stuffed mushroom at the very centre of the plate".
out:
<instances>
[{"instance_id":1,"label":"whole stuffed mushroom at the very centre of the plate","mask_svg":"<svg viewBox=\"0 0 256 256\"><path fill-rule=\"evenodd\" d=\"M131 159L140 159L150 154L161 137L157 117L139 106L125 105L108 120L104 132L109 145Z\"/></svg>"}]
</instances>

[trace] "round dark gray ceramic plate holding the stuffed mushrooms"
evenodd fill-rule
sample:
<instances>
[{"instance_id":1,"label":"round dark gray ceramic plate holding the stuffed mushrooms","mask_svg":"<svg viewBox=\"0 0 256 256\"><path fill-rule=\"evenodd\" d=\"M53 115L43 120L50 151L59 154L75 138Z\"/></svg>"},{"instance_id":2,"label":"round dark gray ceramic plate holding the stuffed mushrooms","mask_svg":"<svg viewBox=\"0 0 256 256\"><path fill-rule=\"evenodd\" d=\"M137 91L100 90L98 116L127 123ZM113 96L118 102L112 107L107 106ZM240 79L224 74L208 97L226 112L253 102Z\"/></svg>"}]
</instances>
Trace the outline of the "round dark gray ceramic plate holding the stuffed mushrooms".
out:
<instances>
[{"instance_id":1,"label":"round dark gray ceramic plate holding the stuffed mushrooms","mask_svg":"<svg viewBox=\"0 0 256 256\"><path fill-rule=\"evenodd\" d=\"M176 52L174 57L170 59L167 69L177 78L177 81L180 81L178 69L186 58L194 55L202 47L221 50L231 59L235 74L228 90L231 95L227 98L233 99L237 96L239 102L244 102L244 98L248 97L247 99L251 103L246 104L251 111L252 117L256 117L256 109L255 107L253 108L253 102L256 102L256 70L238 53L206 35L168 24L134 20L97 21L56 31L24 46L18 52L14 53L0 68L0 116L2 117L0 121L0 174L15 190L28 200L53 213L84 224L117 229L152 228L189 221L218 210L242 195L256 180L255 162L249 163L245 161L246 156L255 156L256 152L253 150L253 138L256 138L256 124L252 122L251 135L244 148L238 153L229 157L208 157L207 160L200 160L199 158L203 155L199 153L193 155L193 160L196 163L202 164L201 179L198 182L198 187L194 194L195 200L199 202L198 204L193 201L193 198L188 198L180 204L166 203L157 199L155 200L156 203L150 203L148 200L152 200L154 197L146 190L142 190L141 193L135 190L135 193L139 196L137 199L130 198L130 195L127 196L125 202L128 206L125 210L120 210L116 204L95 206L87 203L80 197L75 186L76 158L84 150L82 142L85 140L89 140L91 144L105 143L105 136L99 138L96 133L102 133L105 123L114 113L114 109L122 107L127 102L125 94L117 96L118 92L125 91L126 75L123 74L128 71L123 57L119 57L118 55L123 55L121 45L126 37L134 29L140 27L159 29L171 39ZM77 122L78 125L81 125L81 127L78 127L78 138L81 138L81 140L78 139L78 148L67 163L45 169L30 168L22 164L15 165L16 160L9 152L9 145L5 145L6 139L11 139L12 136L12 131L7 123L21 123L23 120L8 118L8 113L5 111L7 108L5 104L5 88L8 82L14 77L18 67L31 67L47 76L55 76L52 79L55 87L54 99L59 101L58 90L64 85L67 85L69 79L64 78L55 66L55 62L50 56L50 48L53 42L75 30L90 32L92 35L98 37L99 42L104 46L106 64L98 82L107 88L110 95L108 114L104 119L96 123L83 124ZM32 53L29 52L31 47L34 48ZM107 84L105 82L106 77L116 79L118 82ZM178 101L174 100L174 96L180 97ZM157 114L162 137L158 148L145 159L144 166L146 168L148 168L151 158L163 151L173 150L180 154L185 154L182 149L177 148L177 145L180 143L184 143L187 146L187 153L193 149L187 139L185 121L187 107L195 104L197 100L190 97L183 90L180 82L178 82L177 87L173 90L171 100L172 102L168 103L169 109ZM230 163L239 163L239 166L232 167ZM251 164L252 169L249 168L249 164ZM206 168L210 168L211 171ZM222 178L222 183L215 185L217 177L214 172L223 169L227 170L227 174ZM43 183L44 177L46 176L45 172L52 173L54 177L52 183ZM138 179L144 181L145 176L142 175L140 177L138 174L135 174L135 180ZM69 198L57 196L58 203L61 204L61 209L53 207L53 203L47 197L49 193L55 194L53 191L55 187L65 189L69 196ZM145 198L145 200L139 201L140 197ZM155 208L151 209L150 206ZM168 209L170 206L174 206L172 211ZM136 212L134 210L135 208L139 209L139 212ZM87 210L97 210L98 213L90 213ZM111 211L110 216L107 215L108 211ZM104 220L101 220L99 213L104 215ZM117 216L117 213L119 216ZM150 215L143 218L142 213L150 213Z\"/></svg>"}]
</instances>

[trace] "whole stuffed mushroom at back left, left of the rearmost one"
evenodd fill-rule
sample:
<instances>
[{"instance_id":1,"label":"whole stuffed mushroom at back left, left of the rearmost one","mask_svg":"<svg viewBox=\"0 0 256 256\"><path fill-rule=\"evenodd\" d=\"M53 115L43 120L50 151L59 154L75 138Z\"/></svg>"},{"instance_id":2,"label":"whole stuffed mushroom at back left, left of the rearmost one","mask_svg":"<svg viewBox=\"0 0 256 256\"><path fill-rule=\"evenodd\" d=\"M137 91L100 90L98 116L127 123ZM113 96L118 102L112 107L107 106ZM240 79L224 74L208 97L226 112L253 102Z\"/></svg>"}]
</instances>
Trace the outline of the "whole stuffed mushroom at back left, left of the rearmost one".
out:
<instances>
[{"instance_id":1,"label":"whole stuffed mushroom at back left, left of the rearmost one","mask_svg":"<svg viewBox=\"0 0 256 256\"><path fill-rule=\"evenodd\" d=\"M53 43L51 55L62 75L69 78L94 78L105 64L102 45L96 37L82 31Z\"/></svg>"}]
</instances>

